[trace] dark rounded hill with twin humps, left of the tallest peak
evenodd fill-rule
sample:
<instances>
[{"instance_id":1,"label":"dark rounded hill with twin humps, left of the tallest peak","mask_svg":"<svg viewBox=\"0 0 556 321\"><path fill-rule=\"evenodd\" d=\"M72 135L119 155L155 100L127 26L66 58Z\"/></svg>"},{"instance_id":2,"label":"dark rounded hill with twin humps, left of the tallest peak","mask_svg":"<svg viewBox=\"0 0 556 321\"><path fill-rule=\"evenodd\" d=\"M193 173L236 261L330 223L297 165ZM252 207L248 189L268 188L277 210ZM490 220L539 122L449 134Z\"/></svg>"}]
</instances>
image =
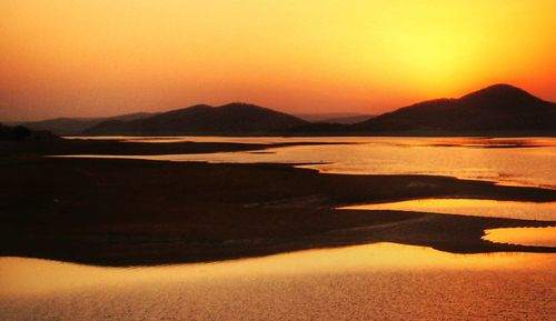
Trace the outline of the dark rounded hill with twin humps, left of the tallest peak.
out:
<instances>
[{"instance_id":1,"label":"dark rounded hill with twin humps, left of the tallest peak","mask_svg":"<svg viewBox=\"0 0 556 321\"><path fill-rule=\"evenodd\" d=\"M269 134L307 123L297 117L248 103L197 104L145 119L100 122L85 134Z\"/></svg>"}]
</instances>

